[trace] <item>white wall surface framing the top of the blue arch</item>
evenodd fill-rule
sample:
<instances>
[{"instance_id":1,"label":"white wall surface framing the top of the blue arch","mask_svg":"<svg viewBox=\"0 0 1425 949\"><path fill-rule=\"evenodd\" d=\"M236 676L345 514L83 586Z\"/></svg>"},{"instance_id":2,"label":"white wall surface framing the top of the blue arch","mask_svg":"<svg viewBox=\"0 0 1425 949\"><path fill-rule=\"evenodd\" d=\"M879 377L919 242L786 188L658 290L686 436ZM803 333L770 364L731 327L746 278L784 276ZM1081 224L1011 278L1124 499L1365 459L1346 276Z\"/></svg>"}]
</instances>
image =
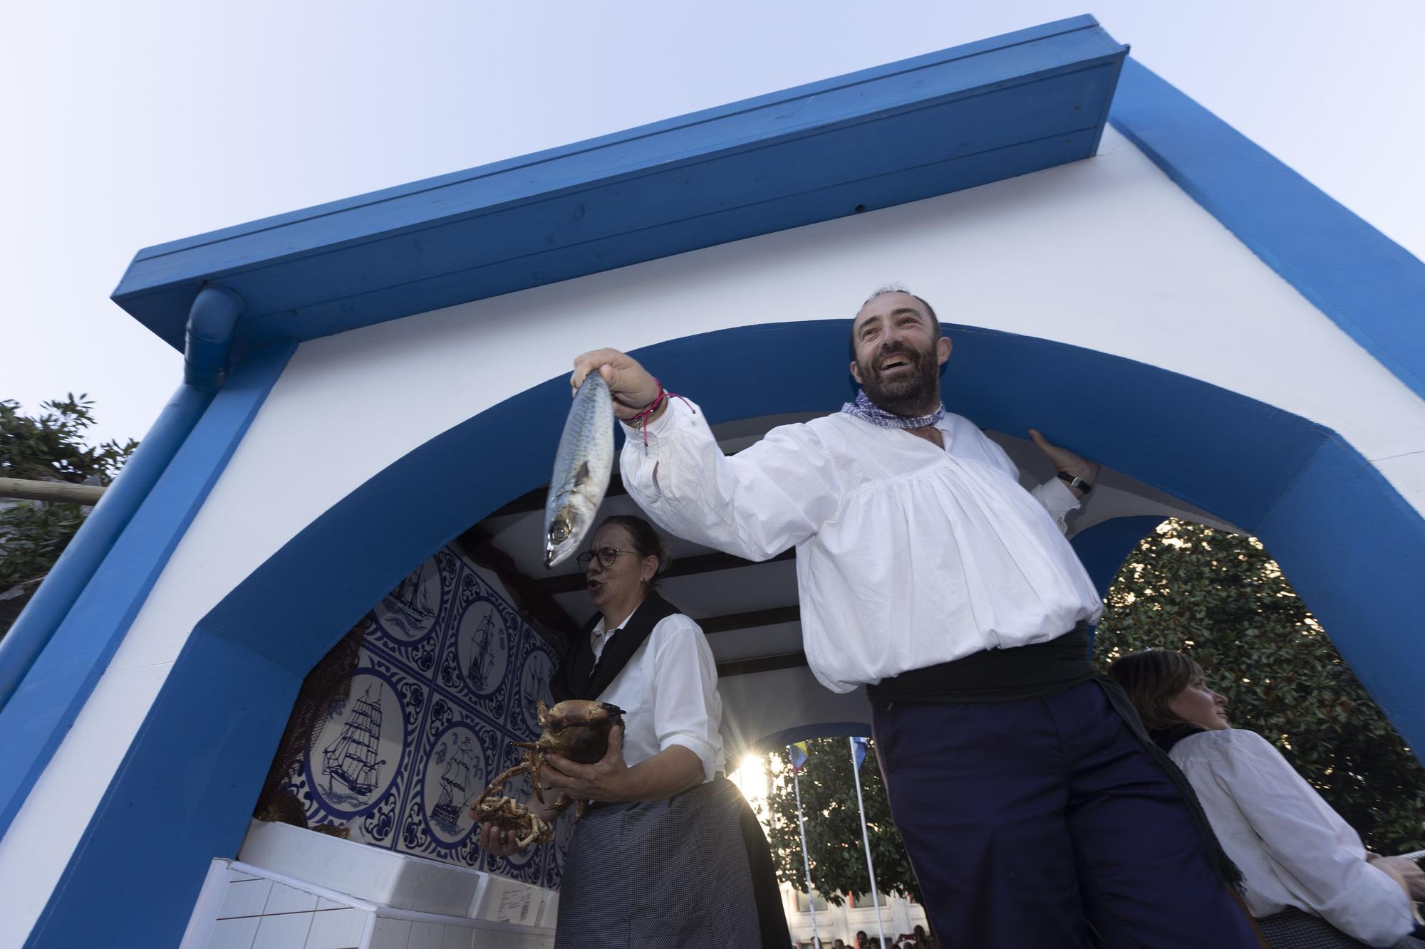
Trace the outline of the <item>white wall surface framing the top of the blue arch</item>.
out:
<instances>
[{"instance_id":1,"label":"white wall surface framing the top of the blue arch","mask_svg":"<svg viewBox=\"0 0 1425 949\"><path fill-rule=\"evenodd\" d=\"M0 841L14 906L0 943L43 908L188 631L353 487L581 351L851 316L888 281L948 322L1100 349L1330 426L1425 512L1425 403L1112 130L1092 161L304 343Z\"/></svg>"}]
</instances>

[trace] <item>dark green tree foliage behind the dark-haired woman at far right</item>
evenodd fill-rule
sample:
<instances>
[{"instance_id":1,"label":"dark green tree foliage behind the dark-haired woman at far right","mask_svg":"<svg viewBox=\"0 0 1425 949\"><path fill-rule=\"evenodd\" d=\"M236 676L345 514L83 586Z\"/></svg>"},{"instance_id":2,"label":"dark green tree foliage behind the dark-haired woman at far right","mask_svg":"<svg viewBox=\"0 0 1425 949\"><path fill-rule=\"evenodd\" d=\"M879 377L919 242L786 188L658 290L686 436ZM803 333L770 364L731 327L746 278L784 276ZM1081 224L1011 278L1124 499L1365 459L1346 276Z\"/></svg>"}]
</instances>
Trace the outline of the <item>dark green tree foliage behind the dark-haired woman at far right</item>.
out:
<instances>
[{"instance_id":1,"label":"dark green tree foliage behind the dark-haired woman at far right","mask_svg":"<svg viewBox=\"0 0 1425 949\"><path fill-rule=\"evenodd\" d=\"M1275 744L1369 849L1425 848L1425 769L1255 539L1168 520L1139 544L1094 653L1150 647L1196 658L1233 727Z\"/></svg>"}]
</instances>

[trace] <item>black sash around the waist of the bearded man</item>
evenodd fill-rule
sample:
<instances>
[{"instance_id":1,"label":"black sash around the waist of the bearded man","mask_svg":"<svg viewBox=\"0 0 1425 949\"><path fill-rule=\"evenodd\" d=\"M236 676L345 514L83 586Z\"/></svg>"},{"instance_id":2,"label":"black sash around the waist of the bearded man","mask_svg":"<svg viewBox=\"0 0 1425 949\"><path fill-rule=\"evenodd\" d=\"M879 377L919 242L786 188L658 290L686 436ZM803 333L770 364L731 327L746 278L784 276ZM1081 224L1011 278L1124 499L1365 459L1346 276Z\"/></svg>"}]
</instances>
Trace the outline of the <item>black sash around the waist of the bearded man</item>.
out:
<instances>
[{"instance_id":1,"label":"black sash around the waist of the bearded man","mask_svg":"<svg viewBox=\"0 0 1425 949\"><path fill-rule=\"evenodd\" d=\"M1089 624L1047 643L982 650L866 685L872 705L891 702L1013 702L1053 695L1099 675L1089 660Z\"/></svg>"}]
</instances>

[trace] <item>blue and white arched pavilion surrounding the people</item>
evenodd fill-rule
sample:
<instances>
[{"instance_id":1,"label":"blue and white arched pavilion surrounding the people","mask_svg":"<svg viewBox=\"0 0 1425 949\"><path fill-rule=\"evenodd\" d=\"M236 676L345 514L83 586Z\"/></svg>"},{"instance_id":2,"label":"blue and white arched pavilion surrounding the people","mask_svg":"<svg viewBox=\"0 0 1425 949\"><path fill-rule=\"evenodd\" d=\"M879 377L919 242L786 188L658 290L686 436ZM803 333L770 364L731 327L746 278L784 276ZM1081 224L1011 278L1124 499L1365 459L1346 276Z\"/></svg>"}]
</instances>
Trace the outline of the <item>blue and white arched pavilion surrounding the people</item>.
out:
<instances>
[{"instance_id":1,"label":"blue and white arched pavilion surrounding the people","mask_svg":"<svg viewBox=\"0 0 1425 949\"><path fill-rule=\"evenodd\" d=\"M1072 523L1100 584L1163 517L1248 531L1425 745L1425 265L1077 17L141 251L114 299L184 378L0 647L0 945L239 945L252 881L244 945L549 945L549 873L251 822L304 677L449 563L506 603L482 708L513 708L563 628L520 613L587 611L539 556L571 356L636 353L735 450L841 405L889 281L1026 482L1030 426L1104 465ZM792 557L674 553L730 759L865 731Z\"/></svg>"}]
</instances>

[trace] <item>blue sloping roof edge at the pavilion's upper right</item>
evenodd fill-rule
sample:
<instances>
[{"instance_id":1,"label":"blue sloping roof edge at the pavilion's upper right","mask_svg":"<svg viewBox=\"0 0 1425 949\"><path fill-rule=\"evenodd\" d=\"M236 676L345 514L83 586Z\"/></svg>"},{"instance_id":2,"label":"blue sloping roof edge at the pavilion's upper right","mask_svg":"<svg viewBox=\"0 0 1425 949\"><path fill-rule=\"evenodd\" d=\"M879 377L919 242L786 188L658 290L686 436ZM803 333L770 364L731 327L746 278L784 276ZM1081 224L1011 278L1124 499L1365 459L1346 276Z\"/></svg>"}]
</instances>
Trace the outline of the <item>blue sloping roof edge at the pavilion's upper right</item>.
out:
<instances>
[{"instance_id":1,"label":"blue sloping roof edge at the pavilion's upper right","mask_svg":"<svg viewBox=\"0 0 1425 949\"><path fill-rule=\"evenodd\" d=\"M1109 121L1425 399L1425 262L1136 60Z\"/></svg>"}]
</instances>

